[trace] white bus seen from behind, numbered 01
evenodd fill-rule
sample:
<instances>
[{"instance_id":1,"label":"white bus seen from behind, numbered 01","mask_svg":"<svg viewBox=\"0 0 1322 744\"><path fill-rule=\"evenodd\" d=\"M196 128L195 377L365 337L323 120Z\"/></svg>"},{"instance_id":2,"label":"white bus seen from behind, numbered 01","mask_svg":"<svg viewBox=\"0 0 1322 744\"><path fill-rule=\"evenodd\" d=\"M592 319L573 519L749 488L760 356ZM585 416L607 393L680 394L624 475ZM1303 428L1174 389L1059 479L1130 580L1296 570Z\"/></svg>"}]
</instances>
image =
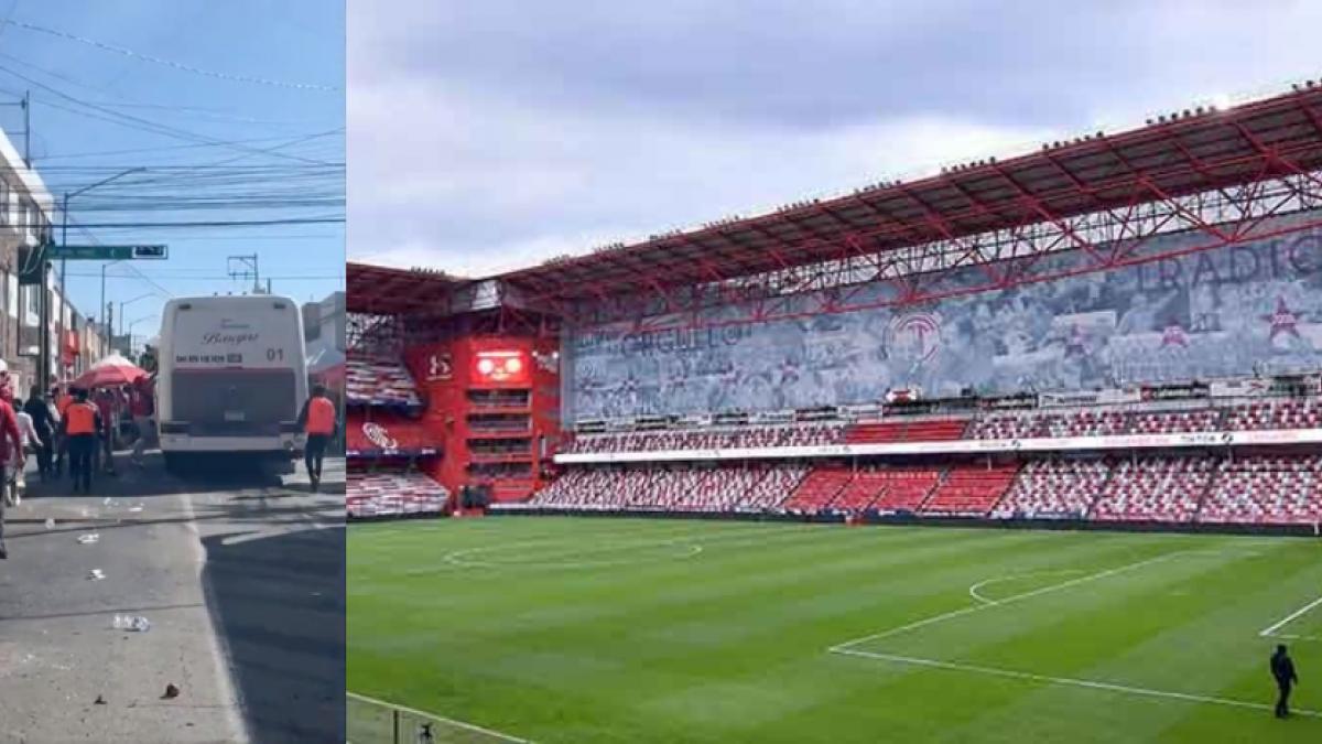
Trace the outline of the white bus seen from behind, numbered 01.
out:
<instances>
[{"instance_id":1,"label":"white bus seen from behind, numbered 01","mask_svg":"<svg viewBox=\"0 0 1322 744\"><path fill-rule=\"evenodd\" d=\"M172 299L161 316L156 414L165 466L221 455L292 470L308 397L303 316L275 295Z\"/></svg>"}]
</instances>

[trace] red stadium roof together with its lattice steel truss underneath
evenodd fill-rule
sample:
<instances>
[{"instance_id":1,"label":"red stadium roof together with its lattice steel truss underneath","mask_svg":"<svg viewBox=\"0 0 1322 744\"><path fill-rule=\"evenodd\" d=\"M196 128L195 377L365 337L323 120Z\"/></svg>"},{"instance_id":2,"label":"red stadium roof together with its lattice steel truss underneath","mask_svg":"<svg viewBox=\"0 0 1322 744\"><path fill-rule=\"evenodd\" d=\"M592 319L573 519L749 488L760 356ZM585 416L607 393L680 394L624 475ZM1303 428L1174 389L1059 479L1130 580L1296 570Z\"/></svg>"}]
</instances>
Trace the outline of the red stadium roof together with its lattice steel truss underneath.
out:
<instances>
[{"instance_id":1,"label":"red stadium roof together with its lattice steel truss underneath","mask_svg":"<svg viewBox=\"0 0 1322 744\"><path fill-rule=\"evenodd\" d=\"M496 281L512 303L575 327L711 327L1060 278L1034 271L1032 262L1062 250L1088 257L1071 274L1159 261L1170 254L1138 253L1154 236L1196 230L1206 241L1179 253L1206 250L1247 234L1268 237L1253 232L1264 220L1318 207L1322 87L1306 87ZM1021 259L1013 271L999 265L1009 258ZM980 266L986 282L958 293L936 289L931 274L960 266ZM878 281L895 283L898 299L854 297L859 285ZM816 295L791 302L805 293ZM743 307L732 314L736 303ZM726 311L709 312L715 307Z\"/></svg>"}]
</instances>

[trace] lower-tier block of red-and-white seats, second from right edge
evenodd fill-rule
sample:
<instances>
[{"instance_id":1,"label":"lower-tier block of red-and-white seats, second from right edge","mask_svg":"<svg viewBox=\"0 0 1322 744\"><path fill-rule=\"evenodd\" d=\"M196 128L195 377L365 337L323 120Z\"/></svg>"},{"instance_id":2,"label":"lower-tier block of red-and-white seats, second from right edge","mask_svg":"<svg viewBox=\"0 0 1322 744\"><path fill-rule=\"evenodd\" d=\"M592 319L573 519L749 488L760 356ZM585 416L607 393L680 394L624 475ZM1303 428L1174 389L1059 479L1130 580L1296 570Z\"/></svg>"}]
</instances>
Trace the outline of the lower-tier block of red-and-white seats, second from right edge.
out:
<instances>
[{"instance_id":1,"label":"lower-tier block of red-and-white seats, second from right edge","mask_svg":"<svg viewBox=\"0 0 1322 744\"><path fill-rule=\"evenodd\" d=\"M1103 522L1178 522L1194 519L1211 483L1214 461L1200 457L1146 457L1121 461L1093 504Z\"/></svg>"}]
</instances>

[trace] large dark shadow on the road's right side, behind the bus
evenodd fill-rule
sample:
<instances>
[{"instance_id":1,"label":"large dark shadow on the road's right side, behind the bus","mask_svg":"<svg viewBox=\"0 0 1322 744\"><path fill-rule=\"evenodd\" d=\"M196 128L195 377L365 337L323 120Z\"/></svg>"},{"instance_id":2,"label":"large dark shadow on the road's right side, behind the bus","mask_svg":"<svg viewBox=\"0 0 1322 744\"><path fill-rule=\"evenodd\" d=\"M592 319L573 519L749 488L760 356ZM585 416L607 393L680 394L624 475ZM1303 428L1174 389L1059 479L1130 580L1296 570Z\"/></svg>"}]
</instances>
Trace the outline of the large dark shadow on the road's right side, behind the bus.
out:
<instances>
[{"instance_id":1,"label":"large dark shadow on the road's right side, behind the bus","mask_svg":"<svg viewBox=\"0 0 1322 744\"><path fill-rule=\"evenodd\" d=\"M202 540L202 580L249 733L344 741L344 527L234 537Z\"/></svg>"}]
</instances>

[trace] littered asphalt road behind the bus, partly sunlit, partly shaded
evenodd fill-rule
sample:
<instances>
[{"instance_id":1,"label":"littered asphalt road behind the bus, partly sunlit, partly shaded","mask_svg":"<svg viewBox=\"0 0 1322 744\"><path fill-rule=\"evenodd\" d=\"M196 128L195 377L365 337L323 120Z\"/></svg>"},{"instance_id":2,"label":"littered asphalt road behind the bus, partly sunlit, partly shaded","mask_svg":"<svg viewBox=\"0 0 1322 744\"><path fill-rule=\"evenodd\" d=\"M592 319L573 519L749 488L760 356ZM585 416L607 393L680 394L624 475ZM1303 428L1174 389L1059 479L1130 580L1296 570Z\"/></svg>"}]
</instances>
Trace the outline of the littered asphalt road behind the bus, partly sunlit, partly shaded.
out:
<instances>
[{"instance_id":1,"label":"littered asphalt road behind the bus, partly sunlit, partly shaded","mask_svg":"<svg viewBox=\"0 0 1322 744\"><path fill-rule=\"evenodd\" d=\"M324 494L119 461L7 510L0 741L344 741L344 461Z\"/></svg>"}]
</instances>

